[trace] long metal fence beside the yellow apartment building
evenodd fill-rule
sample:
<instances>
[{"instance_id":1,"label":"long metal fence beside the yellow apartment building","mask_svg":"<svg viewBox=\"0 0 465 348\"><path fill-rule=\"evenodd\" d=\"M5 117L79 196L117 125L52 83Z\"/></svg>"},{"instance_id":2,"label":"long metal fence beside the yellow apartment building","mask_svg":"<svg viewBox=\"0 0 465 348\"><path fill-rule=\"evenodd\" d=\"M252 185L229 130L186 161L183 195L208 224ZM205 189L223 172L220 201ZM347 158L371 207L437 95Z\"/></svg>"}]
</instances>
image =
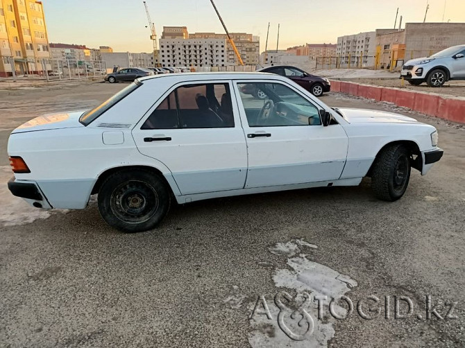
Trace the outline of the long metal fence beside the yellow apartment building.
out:
<instances>
[{"instance_id":1,"label":"long metal fence beside the yellow apartment building","mask_svg":"<svg viewBox=\"0 0 465 348\"><path fill-rule=\"evenodd\" d=\"M107 73L103 60L60 60L27 58L15 60L14 71L8 75L13 80L81 80L102 77Z\"/></svg>"}]
</instances>

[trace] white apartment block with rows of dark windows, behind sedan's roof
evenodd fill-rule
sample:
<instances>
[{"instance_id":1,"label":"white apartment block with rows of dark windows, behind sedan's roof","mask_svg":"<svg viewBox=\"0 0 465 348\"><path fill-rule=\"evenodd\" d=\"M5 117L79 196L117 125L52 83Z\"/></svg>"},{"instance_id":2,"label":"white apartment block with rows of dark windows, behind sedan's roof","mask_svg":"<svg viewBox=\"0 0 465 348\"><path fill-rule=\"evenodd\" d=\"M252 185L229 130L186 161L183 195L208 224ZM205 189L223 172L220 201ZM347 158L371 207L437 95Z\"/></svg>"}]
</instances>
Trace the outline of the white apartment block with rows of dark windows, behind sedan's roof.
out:
<instances>
[{"instance_id":1,"label":"white apartment block with rows of dark windows, behind sedan's roof","mask_svg":"<svg viewBox=\"0 0 465 348\"><path fill-rule=\"evenodd\" d=\"M226 56L224 39L160 39L162 67L225 67L234 65Z\"/></svg>"}]
</instances>

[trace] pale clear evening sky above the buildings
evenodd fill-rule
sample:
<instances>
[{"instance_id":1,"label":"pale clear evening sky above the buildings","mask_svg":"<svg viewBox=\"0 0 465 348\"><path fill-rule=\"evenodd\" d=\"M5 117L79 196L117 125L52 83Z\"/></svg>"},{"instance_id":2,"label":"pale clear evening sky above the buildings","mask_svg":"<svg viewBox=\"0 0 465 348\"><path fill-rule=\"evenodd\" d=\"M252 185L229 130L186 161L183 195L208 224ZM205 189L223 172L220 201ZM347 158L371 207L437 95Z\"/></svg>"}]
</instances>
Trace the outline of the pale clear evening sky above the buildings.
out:
<instances>
[{"instance_id":1,"label":"pale clear evening sky above the buildings","mask_svg":"<svg viewBox=\"0 0 465 348\"><path fill-rule=\"evenodd\" d=\"M392 28L406 22L465 22L465 0L214 0L230 32L260 36L264 51L305 43L335 43L337 37ZM146 0L158 37L163 26L187 26L189 33L223 33L210 0ZM111 46L115 52L151 52L142 0L42 0L49 42ZM446 4L446 6L444 6ZM445 8L445 12L444 12ZM398 26L397 22L397 26ZM465 37L465 33L464 33ZM465 40L464 40L465 41Z\"/></svg>"}]
</instances>

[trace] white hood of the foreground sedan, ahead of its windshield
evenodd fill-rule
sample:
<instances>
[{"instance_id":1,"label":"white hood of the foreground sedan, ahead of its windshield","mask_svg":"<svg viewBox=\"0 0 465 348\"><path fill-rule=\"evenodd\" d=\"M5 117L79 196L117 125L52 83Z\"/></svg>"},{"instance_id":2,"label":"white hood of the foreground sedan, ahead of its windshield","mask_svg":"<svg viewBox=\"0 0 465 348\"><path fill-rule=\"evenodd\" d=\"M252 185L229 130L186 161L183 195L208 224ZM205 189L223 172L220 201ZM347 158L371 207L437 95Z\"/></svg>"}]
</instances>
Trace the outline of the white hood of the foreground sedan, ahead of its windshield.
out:
<instances>
[{"instance_id":1,"label":"white hood of the foreground sedan, ahead of its windshield","mask_svg":"<svg viewBox=\"0 0 465 348\"><path fill-rule=\"evenodd\" d=\"M412 117L378 110L338 108L348 123L419 123Z\"/></svg>"}]
</instances>

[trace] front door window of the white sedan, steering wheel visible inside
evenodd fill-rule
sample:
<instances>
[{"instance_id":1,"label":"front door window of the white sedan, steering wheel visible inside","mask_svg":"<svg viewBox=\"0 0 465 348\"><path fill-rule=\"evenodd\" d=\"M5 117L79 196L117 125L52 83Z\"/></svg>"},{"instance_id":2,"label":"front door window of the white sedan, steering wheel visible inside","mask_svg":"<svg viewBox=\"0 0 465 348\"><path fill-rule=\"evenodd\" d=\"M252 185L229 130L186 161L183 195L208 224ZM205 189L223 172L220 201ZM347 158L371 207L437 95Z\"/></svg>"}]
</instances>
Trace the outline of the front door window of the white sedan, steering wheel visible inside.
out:
<instances>
[{"instance_id":1,"label":"front door window of the white sedan, steering wheel visible inside","mask_svg":"<svg viewBox=\"0 0 465 348\"><path fill-rule=\"evenodd\" d=\"M250 127L321 125L319 109L285 85L251 82L237 87Z\"/></svg>"}]
</instances>

